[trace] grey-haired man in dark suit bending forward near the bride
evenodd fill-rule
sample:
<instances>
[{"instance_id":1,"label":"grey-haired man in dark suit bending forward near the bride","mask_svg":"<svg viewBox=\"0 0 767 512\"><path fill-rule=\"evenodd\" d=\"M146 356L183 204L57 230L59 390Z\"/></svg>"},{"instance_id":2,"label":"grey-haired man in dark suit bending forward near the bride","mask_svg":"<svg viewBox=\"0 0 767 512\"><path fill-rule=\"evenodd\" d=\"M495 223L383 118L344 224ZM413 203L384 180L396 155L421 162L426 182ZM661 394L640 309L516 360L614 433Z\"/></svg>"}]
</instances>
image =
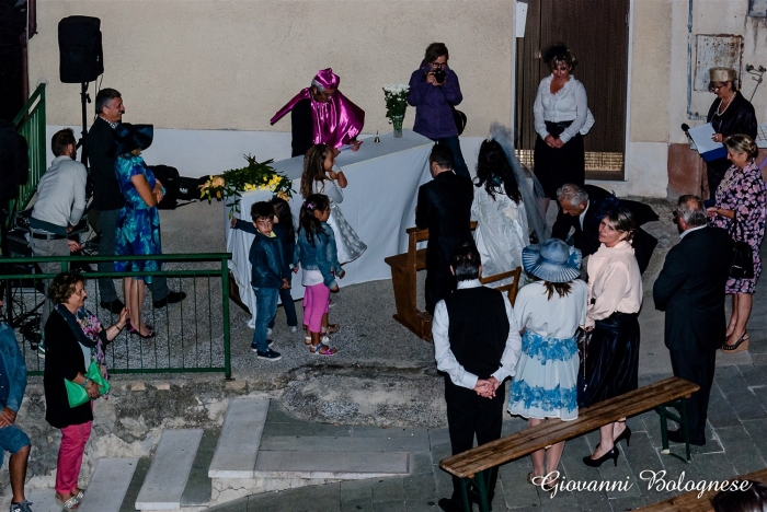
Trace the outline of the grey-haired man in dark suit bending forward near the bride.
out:
<instances>
[{"instance_id":1,"label":"grey-haired man in dark suit bending forward near the bride","mask_svg":"<svg viewBox=\"0 0 767 512\"><path fill-rule=\"evenodd\" d=\"M614 194L594 185L562 185L557 190L560 206L551 236L568 241L570 230L574 229L573 242L583 257L589 256L599 248L599 222L608 211L621 206L629 210L637 223L637 232L632 241L639 270L644 272L650 265L650 258L657 245L657 240L639 228L657 220L657 214L648 205L627 199L618 199ZM585 265L584 265L585 269Z\"/></svg>"}]
</instances>

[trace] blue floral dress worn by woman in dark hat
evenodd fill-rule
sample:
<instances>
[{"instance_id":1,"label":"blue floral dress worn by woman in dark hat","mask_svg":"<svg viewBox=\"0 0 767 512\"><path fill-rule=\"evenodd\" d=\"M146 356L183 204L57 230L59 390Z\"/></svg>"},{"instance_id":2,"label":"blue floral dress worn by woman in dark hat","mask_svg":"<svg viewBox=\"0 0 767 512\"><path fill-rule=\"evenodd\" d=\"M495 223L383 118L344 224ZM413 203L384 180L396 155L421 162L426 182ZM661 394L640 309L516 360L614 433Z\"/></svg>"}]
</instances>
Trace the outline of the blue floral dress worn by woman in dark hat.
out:
<instances>
[{"instance_id":1,"label":"blue floral dress worn by woman in dark hat","mask_svg":"<svg viewBox=\"0 0 767 512\"><path fill-rule=\"evenodd\" d=\"M147 167L141 156L123 155L115 161L115 174L123 193L125 206L117 216L117 232L115 255L162 254L160 246L160 213L157 207L147 207L130 178L142 175L154 188L157 178ZM160 261L115 261L115 271L156 271L160 270ZM139 277L151 282L151 276Z\"/></svg>"}]
</instances>

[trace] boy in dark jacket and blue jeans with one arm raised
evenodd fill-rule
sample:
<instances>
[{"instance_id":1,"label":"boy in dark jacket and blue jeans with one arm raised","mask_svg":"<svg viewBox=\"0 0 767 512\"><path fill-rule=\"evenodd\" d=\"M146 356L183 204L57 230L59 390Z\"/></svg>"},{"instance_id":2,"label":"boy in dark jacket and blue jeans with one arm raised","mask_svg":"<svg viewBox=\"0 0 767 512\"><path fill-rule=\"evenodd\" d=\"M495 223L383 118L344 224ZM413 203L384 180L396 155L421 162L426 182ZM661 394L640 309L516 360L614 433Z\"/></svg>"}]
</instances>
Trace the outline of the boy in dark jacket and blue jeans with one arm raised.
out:
<instances>
[{"instance_id":1,"label":"boy in dark jacket and blue jeans with one arm raised","mask_svg":"<svg viewBox=\"0 0 767 512\"><path fill-rule=\"evenodd\" d=\"M250 349L259 359L276 361L282 356L268 347L272 341L266 339L266 329L277 312L279 290L290 287L290 269L285 265L283 244L272 232L274 206L265 201L255 202L250 209L250 214L253 219L252 225L243 220L231 220L233 229L255 235L248 256L251 264L251 286L255 293L255 331Z\"/></svg>"}]
</instances>

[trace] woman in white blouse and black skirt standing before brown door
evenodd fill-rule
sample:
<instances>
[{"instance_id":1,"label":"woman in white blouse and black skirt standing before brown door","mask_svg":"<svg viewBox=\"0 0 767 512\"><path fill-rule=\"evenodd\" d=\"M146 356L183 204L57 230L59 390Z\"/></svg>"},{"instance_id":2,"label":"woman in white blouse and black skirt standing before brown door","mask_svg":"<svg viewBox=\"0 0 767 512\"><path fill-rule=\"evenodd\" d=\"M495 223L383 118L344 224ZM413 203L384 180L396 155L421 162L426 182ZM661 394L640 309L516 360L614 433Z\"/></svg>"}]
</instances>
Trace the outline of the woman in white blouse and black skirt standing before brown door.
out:
<instances>
[{"instance_id":1,"label":"woman in white blouse and black skirt standing before brown door","mask_svg":"<svg viewBox=\"0 0 767 512\"><path fill-rule=\"evenodd\" d=\"M538 133L533 165L546 195L557 200L557 189L565 183L584 183L582 136L588 132L594 118L588 113L586 89L570 74L576 63L570 49L553 45L546 50L543 60L551 74L540 81L533 105Z\"/></svg>"}]
</instances>

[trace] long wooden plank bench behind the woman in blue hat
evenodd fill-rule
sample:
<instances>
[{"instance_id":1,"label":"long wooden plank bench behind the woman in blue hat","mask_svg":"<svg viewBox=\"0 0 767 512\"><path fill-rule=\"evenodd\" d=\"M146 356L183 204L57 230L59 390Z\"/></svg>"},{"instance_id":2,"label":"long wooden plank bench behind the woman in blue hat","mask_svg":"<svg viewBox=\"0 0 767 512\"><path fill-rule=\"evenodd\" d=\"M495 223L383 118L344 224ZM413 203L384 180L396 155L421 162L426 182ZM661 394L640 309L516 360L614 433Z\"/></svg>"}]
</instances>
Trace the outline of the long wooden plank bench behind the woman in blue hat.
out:
<instances>
[{"instance_id":1,"label":"long wooden plank bench behind the woman in blue hat","mask_svg":"<svg viewBox=\"0 0 767 512\"><path fill-rule=\"evenodd\" d=\"M645 410L655 409L661 416L661 438L663 453L668 452L668 418L682 424L686 441L687 462L690 461L689 434L687 432L687 409L685 400L700 386L678 377L669 377L649 386L634 389L591 407L579 410L577 419L572 421L545 421L505 438L473 447L463 453L444 458L439 466L447 473L461 478L463 507L470 511L469 493L479 494L480 511L486 512L489 472L496 466L524 457L550 444L577 438L621 418L636 416ZM679 416L668 411L675 407Z\"/></svg>"}]
</instances>

